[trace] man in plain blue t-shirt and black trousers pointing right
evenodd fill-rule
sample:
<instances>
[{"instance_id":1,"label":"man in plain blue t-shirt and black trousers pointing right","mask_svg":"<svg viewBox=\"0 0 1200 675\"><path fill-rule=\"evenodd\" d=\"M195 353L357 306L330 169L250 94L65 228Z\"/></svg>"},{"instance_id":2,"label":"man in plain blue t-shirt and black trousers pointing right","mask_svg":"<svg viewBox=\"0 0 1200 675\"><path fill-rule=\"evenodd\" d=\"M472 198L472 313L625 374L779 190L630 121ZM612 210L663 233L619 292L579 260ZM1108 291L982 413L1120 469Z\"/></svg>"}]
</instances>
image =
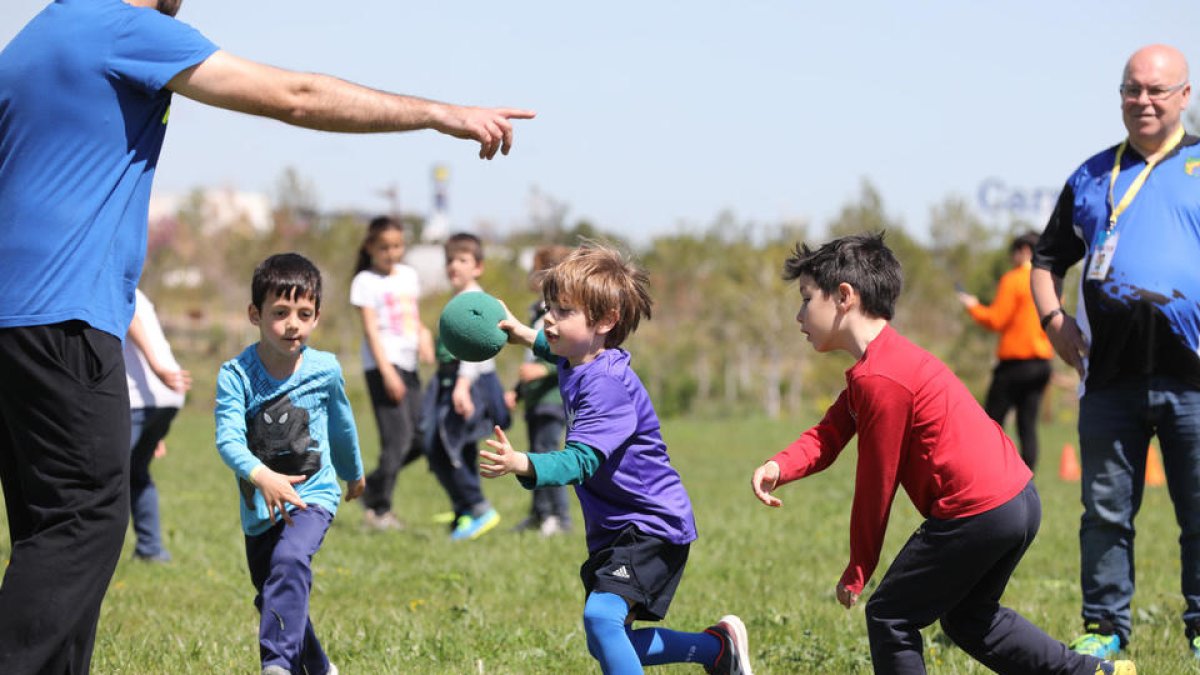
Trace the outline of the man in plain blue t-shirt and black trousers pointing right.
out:
<instances>
[{"instance_id":1,"label":"man in plain blue t-shirt and black trousers pointing right","mask_svg":"<svg viewBox=\"0 0 1200 675\"><path fill-rule=\"evenodd\" d=\"M180 0L59 0L0 52L5 673L89 669L128 519L121 339L173 92L308 129L433 129L506 154L533 112L439 103L220 50Z\"/></svg>"}]
</instances>

